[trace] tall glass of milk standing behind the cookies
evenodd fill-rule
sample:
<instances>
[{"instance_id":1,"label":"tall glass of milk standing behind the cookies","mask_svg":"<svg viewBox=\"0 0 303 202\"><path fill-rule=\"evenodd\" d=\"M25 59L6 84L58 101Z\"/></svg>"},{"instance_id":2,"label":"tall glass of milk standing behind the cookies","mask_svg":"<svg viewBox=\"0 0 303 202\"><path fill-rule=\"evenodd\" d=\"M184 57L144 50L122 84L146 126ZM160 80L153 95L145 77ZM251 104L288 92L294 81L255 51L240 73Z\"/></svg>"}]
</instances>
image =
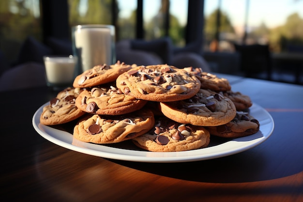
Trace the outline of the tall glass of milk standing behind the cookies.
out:
<instances>
[{"instance_id":1,"label":"tall glass of milk standing behind the cookies","mask_svg":"<svg viewBox=\"0 0 303 202\"><path fill-rule=\"evenodd\" d=\"M77 75L99 64L114 64L115 27L77 25L72 27L73 55L78 57Z\"/></svg>"}]
</instances>

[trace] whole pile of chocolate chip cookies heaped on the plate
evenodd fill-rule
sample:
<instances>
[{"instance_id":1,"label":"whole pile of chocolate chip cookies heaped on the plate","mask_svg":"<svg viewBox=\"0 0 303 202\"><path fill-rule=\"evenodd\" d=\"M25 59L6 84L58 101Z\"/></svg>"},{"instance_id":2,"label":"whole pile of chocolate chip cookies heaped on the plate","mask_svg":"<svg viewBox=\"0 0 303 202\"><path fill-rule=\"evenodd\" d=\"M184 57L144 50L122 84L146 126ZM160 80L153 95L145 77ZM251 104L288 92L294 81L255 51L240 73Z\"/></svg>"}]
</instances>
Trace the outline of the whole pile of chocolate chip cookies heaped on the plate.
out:
<instances>
[{"instance_id":1,"label":"whole pile of chocolate chip cookies heaped on the plate","mask_svg":"<svg viewBox=\"0 0 303 202\"><path fill-rule=\"evenodd\" d=\"M130 140L153 152L207 147L212 136L255 134L249 96L201 68L124 62L97 65L78 75L43 108L40 123L76 121L74 138L95 144Z\"/></svg>"}]
</instances>

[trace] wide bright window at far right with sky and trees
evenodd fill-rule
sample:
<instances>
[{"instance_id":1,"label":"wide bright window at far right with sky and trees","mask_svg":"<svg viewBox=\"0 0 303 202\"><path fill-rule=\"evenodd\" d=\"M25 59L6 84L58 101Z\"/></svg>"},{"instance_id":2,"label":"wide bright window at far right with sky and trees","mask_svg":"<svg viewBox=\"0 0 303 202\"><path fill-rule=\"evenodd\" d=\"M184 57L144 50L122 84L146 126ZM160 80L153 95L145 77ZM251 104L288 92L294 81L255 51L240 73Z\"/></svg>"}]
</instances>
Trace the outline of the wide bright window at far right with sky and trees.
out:
<instances>
[{"instance_id":1,"label":"wide bright window at far right with sky and trees","mask_svg":"<svg viewBox=\"0 0 303 202\"><path fill-rule=\"evenodd\" d=\"M302 8L302 0L204 0L204 49L233 51L233 43L269 44L279 52L303 45Z\"/></svg>"}]
</instances>

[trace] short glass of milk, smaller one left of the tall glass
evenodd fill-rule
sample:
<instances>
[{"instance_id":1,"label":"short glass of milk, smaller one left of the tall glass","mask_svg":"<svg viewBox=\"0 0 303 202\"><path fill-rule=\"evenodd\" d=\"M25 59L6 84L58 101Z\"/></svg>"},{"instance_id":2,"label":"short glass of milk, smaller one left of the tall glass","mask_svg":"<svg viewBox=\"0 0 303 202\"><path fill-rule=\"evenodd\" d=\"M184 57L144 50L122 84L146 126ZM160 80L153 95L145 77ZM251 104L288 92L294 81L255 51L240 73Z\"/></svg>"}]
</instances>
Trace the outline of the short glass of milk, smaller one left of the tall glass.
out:
<instances>
[{"instance_id":1,"label":"short glass of milk, smaller one left of the tall glass","mask_svg":"<svg viewBox=\"0 0 303 202\"><path fill-rule=\"evenodd\" d=\"M75 78L77 57L44 56L46 85L55 88L72 87Z\"/></svg>"}]
</instances>

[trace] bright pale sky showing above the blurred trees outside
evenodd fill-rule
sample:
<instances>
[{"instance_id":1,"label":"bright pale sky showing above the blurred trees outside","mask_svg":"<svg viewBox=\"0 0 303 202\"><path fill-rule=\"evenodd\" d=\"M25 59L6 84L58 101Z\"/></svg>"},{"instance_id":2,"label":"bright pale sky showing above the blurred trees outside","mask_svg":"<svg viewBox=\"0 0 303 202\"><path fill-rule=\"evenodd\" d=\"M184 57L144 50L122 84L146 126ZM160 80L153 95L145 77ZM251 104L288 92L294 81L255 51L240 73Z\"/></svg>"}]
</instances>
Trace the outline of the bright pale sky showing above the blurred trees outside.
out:
<instances>
[{"instance_id":1,"label":"bright pale sky showing above the blurred trees outside","mask_svg":"<svg viewBox=\"0 0 303 202\"><path fill-rule=\"evenodd\" d=\"M204 0L205 15L209 15L218 7L220 0ZM287 16L297 12L303 18L303 0L221 0L221 8L230 17L234 26L244 24L246 3L249 4L249 26L258 26L262 22L269 28L282 25ZM161 0L144 0L144 17L149 20L160 6ZM124 8L121 16L129 16L136 9L136 0L119 0ZM170 0L170 10L184 25L187 21L187 0Z\"/></svg>"}]
</instances>

